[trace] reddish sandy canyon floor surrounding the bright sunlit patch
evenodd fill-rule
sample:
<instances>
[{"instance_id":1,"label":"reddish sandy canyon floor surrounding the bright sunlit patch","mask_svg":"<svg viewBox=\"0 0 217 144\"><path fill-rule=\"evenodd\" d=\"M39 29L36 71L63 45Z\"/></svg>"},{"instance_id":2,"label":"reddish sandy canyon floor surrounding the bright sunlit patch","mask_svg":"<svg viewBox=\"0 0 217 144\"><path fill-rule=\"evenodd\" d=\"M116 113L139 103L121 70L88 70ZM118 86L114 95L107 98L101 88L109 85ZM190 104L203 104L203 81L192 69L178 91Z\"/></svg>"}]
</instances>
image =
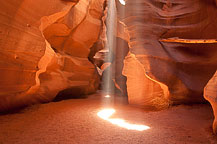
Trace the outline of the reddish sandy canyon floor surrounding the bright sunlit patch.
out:
<instances>
[{"instance_id":1,"label":"reddish sandy canyon floor surrounding the bright sunlit patch","mask_svg":"<svg viewBox=\"0 0 217 144\"><path fill-rule=\"evenodd\" d=\"M129 130L101 119L105 109L99 92L87 99L71 99L28 107L0 116L0 144L214 144L209 105L175 106L149 111L126 104L112 106L110 118L149 127ZM110 107L111 108L111 107Z\"/></svg>"}]
</instances>

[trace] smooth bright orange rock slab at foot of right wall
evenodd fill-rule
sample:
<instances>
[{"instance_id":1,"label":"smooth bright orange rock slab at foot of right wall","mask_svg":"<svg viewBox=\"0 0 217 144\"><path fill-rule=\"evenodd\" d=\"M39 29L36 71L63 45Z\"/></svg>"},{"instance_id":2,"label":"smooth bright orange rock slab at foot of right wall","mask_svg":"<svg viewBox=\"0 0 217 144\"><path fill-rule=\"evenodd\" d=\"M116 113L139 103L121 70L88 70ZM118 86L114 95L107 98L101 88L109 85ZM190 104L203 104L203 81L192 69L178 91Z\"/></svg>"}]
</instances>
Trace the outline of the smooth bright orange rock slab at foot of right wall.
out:
<instances>
[{"instance_id":1,"label":"smooth bright orange rock slab at foot of right wall","mask_svg":"<svg viewBox=\"0 0 217 144\"><path fill-rule=\"evenodd\" d=\"M129 53L124 60L123 74L127 76L127 92L130 104L157 109L169 106L169 91L166 85L157 83L147 74L135 55Z\"/></svg>"}]
</instances>

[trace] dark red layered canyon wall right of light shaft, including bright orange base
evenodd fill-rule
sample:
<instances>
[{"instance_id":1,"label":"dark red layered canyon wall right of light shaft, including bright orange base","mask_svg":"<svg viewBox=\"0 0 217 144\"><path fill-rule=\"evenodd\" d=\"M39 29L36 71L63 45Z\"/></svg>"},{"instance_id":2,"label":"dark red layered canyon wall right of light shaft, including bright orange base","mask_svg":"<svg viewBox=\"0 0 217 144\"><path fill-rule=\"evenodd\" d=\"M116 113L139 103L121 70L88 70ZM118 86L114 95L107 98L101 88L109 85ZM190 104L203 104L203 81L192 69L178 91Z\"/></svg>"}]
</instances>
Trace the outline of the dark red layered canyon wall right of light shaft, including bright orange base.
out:
<instances>
[{"instance_id":1,"label":"dark red layered canyon wall right of light shaft, including bright orange base","mask_svg":"<svg viewBox=\"0 0 217 144\"><path fill-rule=\"evenodd\" d=\"M217 68L217 44L194 42L217 38L215 1L128 0L117 8L130 36L123 70L129 102L159 108L204 102L203 88ZM171 38L196 41L162 41Z\"/></svg>"}]
</instances>

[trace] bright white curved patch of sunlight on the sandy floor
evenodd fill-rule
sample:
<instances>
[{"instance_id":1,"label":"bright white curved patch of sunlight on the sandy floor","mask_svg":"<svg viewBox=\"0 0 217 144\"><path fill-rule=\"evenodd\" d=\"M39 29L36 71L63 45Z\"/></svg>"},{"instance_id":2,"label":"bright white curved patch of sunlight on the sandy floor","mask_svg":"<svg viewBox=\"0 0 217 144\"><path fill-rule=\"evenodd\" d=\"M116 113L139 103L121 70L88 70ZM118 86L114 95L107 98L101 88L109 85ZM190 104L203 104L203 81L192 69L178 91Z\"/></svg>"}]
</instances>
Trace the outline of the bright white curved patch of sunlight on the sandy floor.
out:
<instances>
[{"instance_id":1,"label":"bright white curved patch of sunlight on the sandy floor","mask_svg":"<svg viewBox=\"0 0 217 144\"><path fill-rule=\"evenodd\" d=\"M123 119L119 118L110 118L116 111L114 109L103 109L97 113L97 115L110 123L117 125L122 128L126 128L128 130L137 130L137 131L144 131L150 129L149 126L146 125L137 125L137 124L130 124Z\"/></svg>"}]
</instances>

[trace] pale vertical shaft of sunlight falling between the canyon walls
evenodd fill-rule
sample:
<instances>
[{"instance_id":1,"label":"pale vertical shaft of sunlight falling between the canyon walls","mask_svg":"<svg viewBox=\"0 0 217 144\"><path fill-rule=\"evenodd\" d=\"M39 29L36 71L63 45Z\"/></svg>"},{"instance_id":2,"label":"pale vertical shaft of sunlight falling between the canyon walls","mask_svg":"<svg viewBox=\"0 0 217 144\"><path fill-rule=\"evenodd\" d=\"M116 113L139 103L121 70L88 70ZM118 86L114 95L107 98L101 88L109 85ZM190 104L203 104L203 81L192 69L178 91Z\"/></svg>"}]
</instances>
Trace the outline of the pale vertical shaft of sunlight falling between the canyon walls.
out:
<instances>
[{"instance_id":1,"label":"pale vertical shaft of sunlight falling between the canyon walls","mask_svg":"<svg viewBox=\"0 0 217 144\"><path fill-rule=\"evenodd\" d=\"M116 11L116 1L107 1L107 13L106 13L106 41L105 41L105 51L107 56L101 69L105 70L103 74L103 91L107 93L114 93L114 85L112 78L115 74L115 62L113 62L115 55L116 46L116 33L117 33L117 11ZM112 98L112 97L111 97ZM105 105L112 103L112 101L103 101Z\"/></svg>"}]
</instances>

